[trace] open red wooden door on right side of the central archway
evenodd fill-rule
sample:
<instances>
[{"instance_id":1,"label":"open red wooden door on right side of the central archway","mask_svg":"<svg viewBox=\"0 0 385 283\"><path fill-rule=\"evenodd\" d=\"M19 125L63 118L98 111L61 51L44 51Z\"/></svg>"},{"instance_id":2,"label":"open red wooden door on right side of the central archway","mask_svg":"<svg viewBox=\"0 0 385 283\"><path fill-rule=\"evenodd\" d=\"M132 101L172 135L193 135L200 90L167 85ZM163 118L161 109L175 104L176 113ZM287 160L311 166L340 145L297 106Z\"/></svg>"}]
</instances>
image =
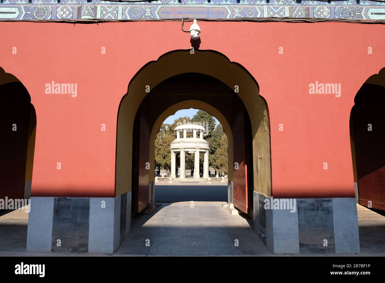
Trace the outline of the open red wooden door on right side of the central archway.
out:
<instances>
[{"instance_id":1,"label":"open red wooden door on right side of the central archway","mask_svg":"<svg viewBox=\"0 0 385 283\"><path fill-rule=\"evenodd\" d=\"M233 96L233 154L234 154L234 206L244 213L249 213L249 189L251 178L248 176L249 156L249 121L246 109L238 95Z\"/></svg>"}]
</instances>

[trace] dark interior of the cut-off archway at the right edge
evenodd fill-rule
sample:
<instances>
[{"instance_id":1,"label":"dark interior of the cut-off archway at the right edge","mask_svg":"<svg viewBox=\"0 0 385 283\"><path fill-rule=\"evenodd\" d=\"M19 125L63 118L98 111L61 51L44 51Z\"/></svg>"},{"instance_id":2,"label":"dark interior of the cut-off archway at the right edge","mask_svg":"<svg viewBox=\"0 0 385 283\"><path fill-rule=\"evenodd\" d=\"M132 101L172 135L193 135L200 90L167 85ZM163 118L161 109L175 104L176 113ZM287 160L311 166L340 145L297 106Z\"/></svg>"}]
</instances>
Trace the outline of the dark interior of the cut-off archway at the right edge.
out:
<instances>
[{"instance_id":1,"label":"dark interior of the cut-off archway at the right edge","mask_svg":"<svg viewBox=\"0 0 385 283\"><path fill-rule=\"evenodd\" d=\"M363 84L350 115L359 203L385 210L385 87ZM371 131L369 131L370 125Z\"/></svg>"}]
</instances>

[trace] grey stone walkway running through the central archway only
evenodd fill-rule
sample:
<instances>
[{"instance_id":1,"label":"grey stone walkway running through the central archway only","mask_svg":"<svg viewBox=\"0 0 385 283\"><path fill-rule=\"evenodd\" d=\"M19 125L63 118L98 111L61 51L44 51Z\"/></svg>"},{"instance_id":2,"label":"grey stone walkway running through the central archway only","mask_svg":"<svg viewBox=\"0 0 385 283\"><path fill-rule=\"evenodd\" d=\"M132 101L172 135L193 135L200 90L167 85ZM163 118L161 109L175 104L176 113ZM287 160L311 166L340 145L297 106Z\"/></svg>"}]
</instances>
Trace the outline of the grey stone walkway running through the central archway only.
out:
<instances>
[{"instance_id":1,"label":"grey stone walkway running through the central archway only","mask_svg":"<svg viewBox=\"0 0 385 283\"><path fill-rule=\"evenodd\" d=\"M196 201L193 208L189 202L162 204L153 215L133 219L131 233L115 254L271 255L251 222L231 215L221 202Z\"/></svg>"}]
</instances>

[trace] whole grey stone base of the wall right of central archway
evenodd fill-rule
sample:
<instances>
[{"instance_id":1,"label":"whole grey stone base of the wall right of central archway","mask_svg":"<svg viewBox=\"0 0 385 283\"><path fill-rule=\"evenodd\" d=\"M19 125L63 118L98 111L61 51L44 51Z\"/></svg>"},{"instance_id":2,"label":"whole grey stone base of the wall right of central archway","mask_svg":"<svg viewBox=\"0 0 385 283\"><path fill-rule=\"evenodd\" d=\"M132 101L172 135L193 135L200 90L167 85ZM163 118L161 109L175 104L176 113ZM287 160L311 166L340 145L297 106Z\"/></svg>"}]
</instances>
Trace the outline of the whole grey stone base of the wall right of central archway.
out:
<instances>
[{"instance_id":1,"label":"whole grey stone base of the wall right of central archway","mask_svg":"<svg viewBox=\"0 0 385 283\"><path fill-rule=\"evenodd\" d=\"M293 199L292 210L265 209L265 199L253 193L254 233L273 253L360 252L354 198Z\"/></svg>"}]
</instances>

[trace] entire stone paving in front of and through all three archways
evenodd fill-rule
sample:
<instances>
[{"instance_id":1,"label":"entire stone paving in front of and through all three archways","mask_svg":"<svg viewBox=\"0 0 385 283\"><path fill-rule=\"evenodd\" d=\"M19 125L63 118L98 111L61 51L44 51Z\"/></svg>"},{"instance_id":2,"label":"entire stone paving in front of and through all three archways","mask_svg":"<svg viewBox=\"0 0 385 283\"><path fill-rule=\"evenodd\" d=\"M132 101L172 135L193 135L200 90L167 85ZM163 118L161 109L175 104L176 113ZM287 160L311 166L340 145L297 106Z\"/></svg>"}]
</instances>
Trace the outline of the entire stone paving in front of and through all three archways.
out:
<instances>
[{"instance_id":1,"label":"entire stone paving in front of and through all three archways","mask_svg":"<svg viewBox=\"0 0 385 283\"><path fill-rule=\"evenodd\" d=\"M254 234L246 216L231 215L221 202L162 204L152 214L132 219L132 230L112 256L280 256ZM357 205L360 254L284 256L385 256L385 217ZM27 215L23 210L0 216L0 256L105 256L89 253L26 252ZM150 246L146 246L146 240ZM234 246L234 240L239 246Z\"/></svg>"}]
</instances>

